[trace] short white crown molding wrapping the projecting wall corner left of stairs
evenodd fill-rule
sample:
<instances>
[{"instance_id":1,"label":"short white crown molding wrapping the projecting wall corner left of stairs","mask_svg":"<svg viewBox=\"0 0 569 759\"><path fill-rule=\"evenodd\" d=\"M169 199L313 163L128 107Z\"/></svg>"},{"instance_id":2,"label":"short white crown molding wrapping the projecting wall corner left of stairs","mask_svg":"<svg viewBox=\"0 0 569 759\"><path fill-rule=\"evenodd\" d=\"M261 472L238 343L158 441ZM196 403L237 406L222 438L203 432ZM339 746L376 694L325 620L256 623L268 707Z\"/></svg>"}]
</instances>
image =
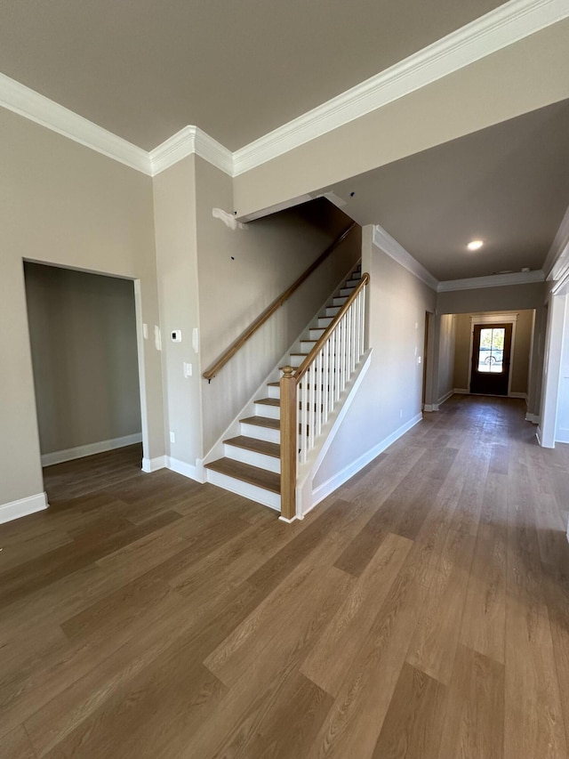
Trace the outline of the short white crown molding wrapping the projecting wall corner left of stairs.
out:
<instances>
[{"instance_id":1,"label":"short white crown molding wrapping the projecting wall corner left of stairs","mask_svg":"<svg viewBox=\"0 0 569 759\"><path fill-rule=\"evenodd\" d=\"M184 126L168 140L150 150L150 174L156 176L164 169L178 163L182 158L196 154L216 166L225 174L233 176L233 153L224 148L199 126Z\"/></svg>"}]
</instances>

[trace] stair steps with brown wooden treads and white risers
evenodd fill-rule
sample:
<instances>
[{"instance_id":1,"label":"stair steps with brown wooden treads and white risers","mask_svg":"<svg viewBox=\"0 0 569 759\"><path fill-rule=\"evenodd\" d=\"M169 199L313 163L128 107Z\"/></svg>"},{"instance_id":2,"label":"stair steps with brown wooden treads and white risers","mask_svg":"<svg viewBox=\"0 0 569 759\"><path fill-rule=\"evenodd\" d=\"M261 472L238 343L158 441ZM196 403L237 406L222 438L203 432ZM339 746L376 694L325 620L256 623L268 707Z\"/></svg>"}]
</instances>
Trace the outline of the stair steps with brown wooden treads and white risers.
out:
<instances>
[{"instance_id":1,"label":"stair steps with brown wooden treads and white risers","mask_svg":"<svg viewBox=\"0 0 569 759\"><path fill-rule=\"evenodd\" d=\"M300 367L361 279L361 265L351 272L330 303L295 343L284 364ZM205 464L207 481L280 511L280 383L267 384L267 397L254 401L254 415L240 419L240 432L223 440L225 456Z\"/></svg>"}]
</instances>

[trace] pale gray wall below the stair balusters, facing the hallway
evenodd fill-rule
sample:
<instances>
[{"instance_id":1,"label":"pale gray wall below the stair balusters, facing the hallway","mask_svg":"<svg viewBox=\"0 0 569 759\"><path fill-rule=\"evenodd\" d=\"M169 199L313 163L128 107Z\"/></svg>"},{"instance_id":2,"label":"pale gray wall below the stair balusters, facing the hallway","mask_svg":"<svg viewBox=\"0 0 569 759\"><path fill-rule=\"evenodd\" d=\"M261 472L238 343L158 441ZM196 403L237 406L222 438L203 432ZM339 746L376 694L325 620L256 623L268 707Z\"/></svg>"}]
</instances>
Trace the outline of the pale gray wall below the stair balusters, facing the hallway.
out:
<instances>
[{"instance_id":1,"label":"pale gray wall below the stair balusters, facing the hallway","mask_svg":"<svg viewBox=\"0 0 569 759\"><path fill-rule=\"evenodd\" d=\"M373 455L384 440L421 414L425 315L434 311L437 295L373 246L372 227L364 228L362 266L371 277L367 298L372 364L314 487Z\"/></svg>"}]
</instances>

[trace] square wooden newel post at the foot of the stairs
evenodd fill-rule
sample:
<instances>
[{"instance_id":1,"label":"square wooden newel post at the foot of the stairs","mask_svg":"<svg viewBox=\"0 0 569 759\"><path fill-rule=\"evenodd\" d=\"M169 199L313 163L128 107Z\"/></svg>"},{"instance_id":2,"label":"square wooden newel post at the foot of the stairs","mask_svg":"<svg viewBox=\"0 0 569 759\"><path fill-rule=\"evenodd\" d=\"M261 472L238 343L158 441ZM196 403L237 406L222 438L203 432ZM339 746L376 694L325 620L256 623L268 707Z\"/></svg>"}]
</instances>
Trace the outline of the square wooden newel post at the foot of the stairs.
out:
<instances>
[{"instance_id":1,"label":"square wooden newel post at the foot of the stairs","mask_svg":"<svg viewBox=\"0 0 569 759\"><path fill-rule=\"evenodd\" d=\"M283 367L281 377L281 518L296 516L297 400L293 367Z\"/></svg>"}]
</instances>

